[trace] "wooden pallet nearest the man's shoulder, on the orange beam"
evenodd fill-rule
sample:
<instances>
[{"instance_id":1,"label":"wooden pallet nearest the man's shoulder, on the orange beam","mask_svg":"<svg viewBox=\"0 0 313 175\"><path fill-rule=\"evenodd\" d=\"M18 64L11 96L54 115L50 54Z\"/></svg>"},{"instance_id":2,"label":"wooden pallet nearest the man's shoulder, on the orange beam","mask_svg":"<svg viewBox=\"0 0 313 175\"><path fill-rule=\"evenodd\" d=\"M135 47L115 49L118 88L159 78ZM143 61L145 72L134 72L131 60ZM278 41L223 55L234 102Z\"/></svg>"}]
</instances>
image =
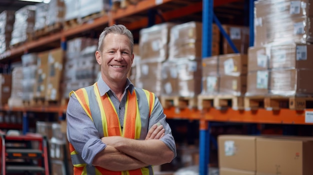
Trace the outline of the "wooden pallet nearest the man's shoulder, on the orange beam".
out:
<instances>
[{"instance_id":1,"label":"wooden pallet nearest the man's shoulder, on the orange beam","mask_svg":"<svg viewBox=\"0 0 313 175\"><path fill-rule=\"evenodd\" d=\"M179 109L196 108L196 97L162 96L160 102L163 108L177 107Z\"/></svg>"}]
</instances>

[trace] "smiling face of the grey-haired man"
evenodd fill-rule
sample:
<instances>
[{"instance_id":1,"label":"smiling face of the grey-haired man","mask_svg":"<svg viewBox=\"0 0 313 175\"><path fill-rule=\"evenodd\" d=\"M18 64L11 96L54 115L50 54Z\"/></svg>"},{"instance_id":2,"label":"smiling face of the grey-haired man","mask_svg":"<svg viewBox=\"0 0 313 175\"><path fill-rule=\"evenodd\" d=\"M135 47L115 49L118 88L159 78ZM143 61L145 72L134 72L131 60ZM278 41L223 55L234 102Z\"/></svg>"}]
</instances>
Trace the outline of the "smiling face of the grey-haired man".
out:
<instances>
[{"instance_id":1,"label":"smiling face of the grey-haired man","mask_svg":"<svg viewBox=\"0 0 313 175\"><path fill-rule=\"evenodd\" d=\"M103 45L102 52L95 54L101 65L102 78L108 82L125 80L133 60L128 37L109 33Z\"/></svg>"}]
</instances>

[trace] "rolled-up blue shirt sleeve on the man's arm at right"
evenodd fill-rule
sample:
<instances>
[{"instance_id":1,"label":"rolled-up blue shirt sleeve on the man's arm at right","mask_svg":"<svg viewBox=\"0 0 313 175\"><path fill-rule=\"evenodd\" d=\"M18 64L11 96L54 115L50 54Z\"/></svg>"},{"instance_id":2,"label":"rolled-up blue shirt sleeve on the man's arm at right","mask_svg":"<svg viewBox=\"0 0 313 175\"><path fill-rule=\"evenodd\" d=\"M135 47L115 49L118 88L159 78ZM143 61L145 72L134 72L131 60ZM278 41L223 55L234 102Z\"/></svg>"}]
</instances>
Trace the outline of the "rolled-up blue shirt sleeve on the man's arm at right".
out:
<instances>
[{"instance_id":1,"label":"rolled-up blue shirt sleeve on the man's arm at right","mask_svg":"<svg viewBox=\"0 0 313 175\"><path fill-rule=\"evenodd\" d=\"M155 96L154 107L150 116L148 130L158 122L160 122L165 129L165 135L160 140L174 153L175 158L177 156L175 140L171 134L170 126L166 122L166 115L164 114L163 107L158 98Z\"/></svg>"}]
</instances>

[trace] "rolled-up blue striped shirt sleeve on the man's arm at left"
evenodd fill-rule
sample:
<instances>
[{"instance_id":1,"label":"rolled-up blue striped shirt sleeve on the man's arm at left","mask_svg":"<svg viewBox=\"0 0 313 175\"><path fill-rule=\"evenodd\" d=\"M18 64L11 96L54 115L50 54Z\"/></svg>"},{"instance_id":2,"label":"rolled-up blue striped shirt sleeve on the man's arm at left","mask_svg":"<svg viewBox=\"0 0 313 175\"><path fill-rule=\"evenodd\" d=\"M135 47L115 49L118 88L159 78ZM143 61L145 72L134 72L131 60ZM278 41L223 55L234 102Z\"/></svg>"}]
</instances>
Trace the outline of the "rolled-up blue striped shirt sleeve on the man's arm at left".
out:
<instances>
[{"instance_id":1,"label":"rolled-up blue striped shirt sleeve on the man's arm at left","mask_svg":"<svg viewBox=\"0 0 313 175\"><path fill-rule=\"evenodd\" d=\"M66 110L67 139L82 160L92 165L93 158L106 145L101 142L93 121L87 116L74 94L71 94Z\"/></svg>"}]
</instances>

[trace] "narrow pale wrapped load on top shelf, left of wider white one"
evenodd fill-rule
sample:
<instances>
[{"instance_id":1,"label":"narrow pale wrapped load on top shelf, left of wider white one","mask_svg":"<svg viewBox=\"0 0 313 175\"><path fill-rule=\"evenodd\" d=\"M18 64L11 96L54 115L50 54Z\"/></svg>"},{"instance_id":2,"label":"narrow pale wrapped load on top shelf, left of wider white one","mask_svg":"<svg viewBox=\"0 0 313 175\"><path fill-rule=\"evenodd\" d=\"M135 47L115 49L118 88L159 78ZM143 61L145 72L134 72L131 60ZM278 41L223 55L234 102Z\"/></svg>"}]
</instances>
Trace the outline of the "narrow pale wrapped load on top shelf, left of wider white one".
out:
<instances>
[{"instance_id":1,"label":"narrow pale wrapped load on top shelf, left of wider white one","mask_svg":"<svg viewBox=\"0 0 313 175\"><path fill-rule=\"evenodd\" d=\"M80 0L64 0L65 14L64 20L77 19L79 16Z\"/></svg>"}]
</instances>

